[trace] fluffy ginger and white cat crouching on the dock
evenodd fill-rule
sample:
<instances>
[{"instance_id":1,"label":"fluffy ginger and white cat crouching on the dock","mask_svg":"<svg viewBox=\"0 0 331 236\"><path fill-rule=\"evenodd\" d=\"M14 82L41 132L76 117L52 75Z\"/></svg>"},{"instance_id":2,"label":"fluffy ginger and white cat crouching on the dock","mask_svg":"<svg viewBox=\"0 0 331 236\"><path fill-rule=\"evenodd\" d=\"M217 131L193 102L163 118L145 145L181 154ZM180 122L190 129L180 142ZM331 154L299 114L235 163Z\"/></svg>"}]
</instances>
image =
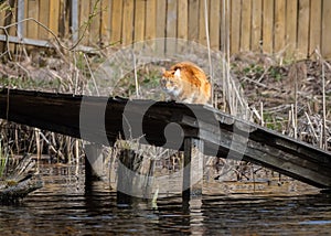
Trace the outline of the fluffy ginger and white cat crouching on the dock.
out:
<instances>
[{"instance_id":1,"label":"fluffy ginger and white cat crouching on the dock","mask_svg":"<svg viewBox=\"0 0 331 236\"><path fill-rule=\"evenodd\" d=\"M163 71L160 84L171 99L177 101L207 104L211 98L211 84L206 75L191 62L181 62Z\"/></svg>"}]
</instances>

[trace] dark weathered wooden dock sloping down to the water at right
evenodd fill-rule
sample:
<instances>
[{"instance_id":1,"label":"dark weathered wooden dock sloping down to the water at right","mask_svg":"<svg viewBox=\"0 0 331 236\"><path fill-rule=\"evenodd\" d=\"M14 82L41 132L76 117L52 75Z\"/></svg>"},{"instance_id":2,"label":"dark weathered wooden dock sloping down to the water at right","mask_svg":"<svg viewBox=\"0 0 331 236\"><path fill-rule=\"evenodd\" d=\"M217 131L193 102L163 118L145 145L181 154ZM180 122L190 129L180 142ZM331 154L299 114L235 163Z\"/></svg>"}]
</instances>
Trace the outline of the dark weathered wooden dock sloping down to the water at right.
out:
<instances>
[{"instance_id":1,"label":"dark weathered wooden dock sloping down to the water at right","mask_svg":"<svg viewBox=\"0 0 331 236\"><path fill-rule=\"evenodd\" d=\"M249 161L331 187L330 152L200 105L2 89L0 118L106 146L119 135L143 135L141 142L174 149L178 143L162 133L177 124L180 138L203 141L204 154Z\"/></svg>"}]
</instances>

